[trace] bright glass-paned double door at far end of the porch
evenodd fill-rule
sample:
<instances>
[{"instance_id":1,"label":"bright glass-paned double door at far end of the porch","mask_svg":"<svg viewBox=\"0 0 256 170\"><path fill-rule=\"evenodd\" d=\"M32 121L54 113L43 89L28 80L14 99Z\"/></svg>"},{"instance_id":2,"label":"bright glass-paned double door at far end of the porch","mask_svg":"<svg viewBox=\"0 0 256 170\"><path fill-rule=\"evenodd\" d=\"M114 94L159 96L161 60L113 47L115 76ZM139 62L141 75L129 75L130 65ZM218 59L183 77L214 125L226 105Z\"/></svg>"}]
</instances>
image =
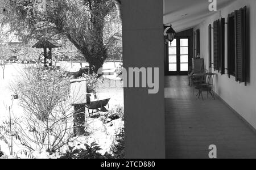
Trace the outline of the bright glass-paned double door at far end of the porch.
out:
<instances>
[{"instance_id":1,"label":"bright glass-paned double door at far end of the porch","mask_svg":"<svg viewBox=\"0 0 256 170\"><path fill-rule=\"evenodd\" d=\"M188 39L174 39L168 45L168 71L172 75L187 74L189 59Z\"/></svg>"}]
</instances>

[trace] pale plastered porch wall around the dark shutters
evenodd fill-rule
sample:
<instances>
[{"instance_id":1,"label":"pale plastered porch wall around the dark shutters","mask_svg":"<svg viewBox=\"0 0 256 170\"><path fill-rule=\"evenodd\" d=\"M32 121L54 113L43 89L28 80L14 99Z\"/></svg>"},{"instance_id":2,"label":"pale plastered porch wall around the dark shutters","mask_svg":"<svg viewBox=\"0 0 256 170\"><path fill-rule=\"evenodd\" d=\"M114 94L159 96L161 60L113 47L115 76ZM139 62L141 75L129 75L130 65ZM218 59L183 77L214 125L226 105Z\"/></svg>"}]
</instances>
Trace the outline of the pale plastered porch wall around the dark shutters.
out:
<instances>
[{"instance_id":1,"label":"pale plastered porch wall around the dark shutters","mask_svg":"<svg viewBox=\"0 0 256 170\"><path fill-rule=\"evenodd\" d=\"M249 11L249 56L250 56L250 82L245 86L244 83L236 82L234 76L231 78L228 75L218 75L214 80L214 91L230 105L237 113L239 113L250 125L256 129L256 1L255 0L237 0L231 5L223 8L220 13L210 16L203 23L198 25L195 30L200 28L200 50L201 57L205 59L205 66L209 66L208 54L208 25L214 20L225 18L227 22L228 14L241 7L247 6ZM225 25L225 68L227 68L227 25ZM213 32L213 31L212 31ZM213 37L212 37L213 45ZM213 59L213 46L212 46Z\"/></svg>"}]
</instances>

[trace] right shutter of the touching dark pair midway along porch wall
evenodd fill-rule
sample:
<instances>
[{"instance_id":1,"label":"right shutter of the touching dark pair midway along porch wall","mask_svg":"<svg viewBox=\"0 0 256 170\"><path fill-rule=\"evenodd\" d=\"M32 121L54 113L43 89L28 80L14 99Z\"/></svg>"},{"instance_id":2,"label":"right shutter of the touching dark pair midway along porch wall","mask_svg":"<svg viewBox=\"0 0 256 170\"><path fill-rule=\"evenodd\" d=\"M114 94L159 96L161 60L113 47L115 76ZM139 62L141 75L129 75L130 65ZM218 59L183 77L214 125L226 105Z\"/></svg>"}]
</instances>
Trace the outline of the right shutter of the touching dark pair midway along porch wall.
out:
<instances>
[{"instance_id":1,"label":"right shutter of the touching dark pair midway along porch wall","mask_svg":"<svg viewBox=\"0 0 256 170\"><path fill-rule=\"evenodd\" d=\"M219 41L219 64L221 74L225 74L225 18L221 18L220 29L219 29L220 41Z\"/></svg>"}]
</instances>

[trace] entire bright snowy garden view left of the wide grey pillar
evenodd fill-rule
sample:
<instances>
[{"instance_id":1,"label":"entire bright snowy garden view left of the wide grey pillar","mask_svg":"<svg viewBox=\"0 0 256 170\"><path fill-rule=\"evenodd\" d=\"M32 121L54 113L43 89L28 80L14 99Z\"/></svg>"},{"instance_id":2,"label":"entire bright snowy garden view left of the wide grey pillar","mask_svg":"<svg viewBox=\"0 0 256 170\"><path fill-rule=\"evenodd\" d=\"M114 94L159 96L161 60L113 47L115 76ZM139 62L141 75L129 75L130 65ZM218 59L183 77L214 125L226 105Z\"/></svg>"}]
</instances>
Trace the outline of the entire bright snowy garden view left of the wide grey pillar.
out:
<instances>
[{"instance_id":1,"label":"entire bright snowy garden view left of the wide grey pillar","mask_svg":"<svg viewBox=\"0 0 256 170\"><path fill-rule=\"evenodd\" d=\"M1 158L123 158L118 3L1 3Z\"/></svg>"}]
</instances>

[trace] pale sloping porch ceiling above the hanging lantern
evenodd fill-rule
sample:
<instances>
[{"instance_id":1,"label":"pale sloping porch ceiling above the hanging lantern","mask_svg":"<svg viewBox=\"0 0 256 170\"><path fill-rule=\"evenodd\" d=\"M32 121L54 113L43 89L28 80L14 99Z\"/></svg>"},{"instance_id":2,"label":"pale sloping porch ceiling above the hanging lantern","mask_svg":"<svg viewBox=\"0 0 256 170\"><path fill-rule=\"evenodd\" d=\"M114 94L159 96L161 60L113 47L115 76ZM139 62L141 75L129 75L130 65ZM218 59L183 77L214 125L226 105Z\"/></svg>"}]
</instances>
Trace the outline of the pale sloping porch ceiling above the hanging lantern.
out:
<instances>
[{"instance_id":1,"label":"pale sloping porch ceiling above the hanging lantern","mask_svg":"<svg viewBox=\"0 0 256 170\"><path fill-rule=\"evenodd\" d=\"M172 24L176 32L195 27L218 11L209 11L208 0L163 0L164 24ZM217 0L217 10L234 0Z\"/></svg>"}]
</instances>

